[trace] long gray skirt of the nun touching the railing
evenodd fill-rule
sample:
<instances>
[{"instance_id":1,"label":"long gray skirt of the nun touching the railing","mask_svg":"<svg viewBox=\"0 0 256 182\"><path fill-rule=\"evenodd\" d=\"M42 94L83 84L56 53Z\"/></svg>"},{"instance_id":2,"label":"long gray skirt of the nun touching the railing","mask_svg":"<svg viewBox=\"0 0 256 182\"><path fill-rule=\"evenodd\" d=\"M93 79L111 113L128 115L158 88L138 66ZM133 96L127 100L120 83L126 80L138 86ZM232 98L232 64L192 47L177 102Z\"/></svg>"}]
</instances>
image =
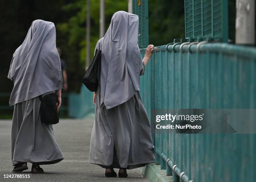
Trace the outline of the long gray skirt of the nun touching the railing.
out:
<instances>
[{"instance_id":1,"label":"long gray skirt of the nun touching the railing","mask_svg":"<svg viewBox=\"0 0 256 182\"><path fill-rule=\"evenodd\" d=\"M107 110L104 104L100 106L98 87L89 162L127 169L155 162L151 128L139 92Z\"/></svg>"}]
</instances>

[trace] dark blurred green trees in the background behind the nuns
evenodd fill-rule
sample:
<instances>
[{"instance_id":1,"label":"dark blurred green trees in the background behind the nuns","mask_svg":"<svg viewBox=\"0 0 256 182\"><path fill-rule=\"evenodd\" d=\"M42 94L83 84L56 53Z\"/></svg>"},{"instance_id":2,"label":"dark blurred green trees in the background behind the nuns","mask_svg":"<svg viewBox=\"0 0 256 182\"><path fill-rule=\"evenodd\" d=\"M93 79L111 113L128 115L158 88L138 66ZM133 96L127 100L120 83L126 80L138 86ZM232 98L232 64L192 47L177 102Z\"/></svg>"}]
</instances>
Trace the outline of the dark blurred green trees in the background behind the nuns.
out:
<instances>
[{"instance_id":1,"label":"dark blurred green trees in the background behind the nuns","mask_svg":"<svg viewBox=\"0 0 256 182\"><path fill-rule=\"evenodd\" d=\"M68 92L79 92L86 62L87 0L0 0L0 4L0 92L12 90L13 82L7 75L13 52L36 19L54 22L56 45L67 65ZM164 45L185 37L183 0L149 0L148 4L150 44ZM91 57L99 39L99 10L100 0L91 0ZM127 11L128 0L105 0L106 30L118 10ZM235 17L235 0L229 0L229 38L233 42ZM8 98L0 97L0 105L4 104L8 105Z\"/></svg>"}]
</instances>

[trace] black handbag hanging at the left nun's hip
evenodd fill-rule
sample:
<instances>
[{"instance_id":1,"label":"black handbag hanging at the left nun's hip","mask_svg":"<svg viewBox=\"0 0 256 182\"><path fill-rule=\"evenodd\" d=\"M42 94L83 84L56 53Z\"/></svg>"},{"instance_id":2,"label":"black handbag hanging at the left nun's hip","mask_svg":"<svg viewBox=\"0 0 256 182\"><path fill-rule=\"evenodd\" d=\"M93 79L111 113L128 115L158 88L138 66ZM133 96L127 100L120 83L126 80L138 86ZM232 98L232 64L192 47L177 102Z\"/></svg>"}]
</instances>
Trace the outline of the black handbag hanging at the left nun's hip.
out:
<instances>
[{"instance_id":1,"label":"black handbag hanging at the left nun's hip","mask_svg":"<svg viewBox=\"0 0 256 182\"><path fill-rule=\"evenodd\" d=\"M59 112L57 110L57 101L58 95L56 92L47 94L47 95L40 95L41 100L40 105L40 118L41 122L54 125L59 122Z\"/></svg>"}]
</instances>

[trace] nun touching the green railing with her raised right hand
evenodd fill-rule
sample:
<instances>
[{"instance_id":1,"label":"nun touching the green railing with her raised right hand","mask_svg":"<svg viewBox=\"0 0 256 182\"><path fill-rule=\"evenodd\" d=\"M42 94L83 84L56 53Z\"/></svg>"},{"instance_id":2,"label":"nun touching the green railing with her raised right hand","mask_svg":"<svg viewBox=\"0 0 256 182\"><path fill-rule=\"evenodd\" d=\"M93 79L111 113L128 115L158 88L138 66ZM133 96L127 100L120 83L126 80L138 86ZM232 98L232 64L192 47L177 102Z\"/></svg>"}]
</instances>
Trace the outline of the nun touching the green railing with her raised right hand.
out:
<instances>
[{"instance_id":1,"label":"nun touching the green railing with her raised right hand","mask_svg":"<svg viewBox=\"0 0 256 182\"><path fill-rule=\"evenodd\" d=\"M106 168L106 177L127 177L126 169L155 162L151 128L140 95L140 75L153 53L141 59L138 16L115 12L96 45L101 50L100 84L95 93L95 122L89 162Z\"/></svg>"}]
</instances>

